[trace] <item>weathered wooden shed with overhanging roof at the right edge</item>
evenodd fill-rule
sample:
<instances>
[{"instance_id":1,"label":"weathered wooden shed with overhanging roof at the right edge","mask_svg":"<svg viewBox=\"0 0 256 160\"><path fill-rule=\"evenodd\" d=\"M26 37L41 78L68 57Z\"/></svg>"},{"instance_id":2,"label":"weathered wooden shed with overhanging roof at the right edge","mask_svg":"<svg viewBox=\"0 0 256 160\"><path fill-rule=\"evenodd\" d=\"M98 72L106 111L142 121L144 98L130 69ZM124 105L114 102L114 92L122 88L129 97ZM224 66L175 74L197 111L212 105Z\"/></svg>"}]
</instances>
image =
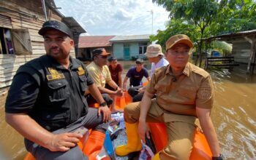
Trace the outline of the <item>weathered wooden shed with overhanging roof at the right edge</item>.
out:
<instances>
[{"instance_id":1,"label":"weathered wooden shed with overhanging roof at the right edge","mask_svg":"<svg viewBox=\"0 0 256 160\"><path fill-rule=\"evenodd\" d=\"M234 61L236 63L246 64L247 73L255 73L256 30L222 34L202 40L206 41L206 43L209 43L210 41L226 41L227 43L232 44L232 56L234 57Z\"/></svg>"}]
</instances>

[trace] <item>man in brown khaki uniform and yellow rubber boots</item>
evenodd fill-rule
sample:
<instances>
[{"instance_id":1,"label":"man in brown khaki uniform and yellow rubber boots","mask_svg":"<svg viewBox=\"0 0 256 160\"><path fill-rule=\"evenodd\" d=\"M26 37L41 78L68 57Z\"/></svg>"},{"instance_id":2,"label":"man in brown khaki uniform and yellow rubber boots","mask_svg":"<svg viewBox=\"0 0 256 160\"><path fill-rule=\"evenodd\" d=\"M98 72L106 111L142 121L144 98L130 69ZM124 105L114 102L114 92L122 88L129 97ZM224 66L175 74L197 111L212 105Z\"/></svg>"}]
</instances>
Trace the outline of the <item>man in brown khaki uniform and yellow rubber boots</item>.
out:
<instances>
[{"instance_id":1,"label":"man in brown khaki uniform and yellow rubber boots","mask_svg":"<svg viewBox=\"0 0 256 160\"><path fill-rule=\"evenodd\" d=\"M188 62L192 47L192 41L184 34L166 41L165 57L170 65L153 73L140 103L124 108L127 145L116 148L118 156L140 151L140 139L145 143L145 136L149 138L146 122L150 121L165 123L168 135L167 146L153 159L189 159L198 126L206 135L213 159L222 159L210 117L213 83L209 73ZM157 97L151 100L154 94Z\"/></svg>"}]
</instances>

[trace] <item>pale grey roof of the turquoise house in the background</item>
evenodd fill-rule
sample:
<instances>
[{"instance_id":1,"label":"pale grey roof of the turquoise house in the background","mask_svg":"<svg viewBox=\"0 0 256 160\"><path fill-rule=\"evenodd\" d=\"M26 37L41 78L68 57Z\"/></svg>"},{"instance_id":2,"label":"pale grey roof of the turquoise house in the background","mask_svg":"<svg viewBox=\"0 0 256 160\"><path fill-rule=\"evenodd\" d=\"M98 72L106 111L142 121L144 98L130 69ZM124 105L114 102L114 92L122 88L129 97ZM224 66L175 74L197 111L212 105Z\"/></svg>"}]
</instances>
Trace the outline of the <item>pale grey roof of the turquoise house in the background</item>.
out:
<instances>
[{"instance_id":1,"label":"pale grey roof of the turquoise house in the background","mask_svg":"<svg viewBox=\"0 0 256 160\"><path fill-rule=\"evenodd\" d=\"M110 39L110 42L121 42L121 41L149 41L150 34L144 35L132 35L132 36L115 36Z\"/></svg>"}]
</instances>

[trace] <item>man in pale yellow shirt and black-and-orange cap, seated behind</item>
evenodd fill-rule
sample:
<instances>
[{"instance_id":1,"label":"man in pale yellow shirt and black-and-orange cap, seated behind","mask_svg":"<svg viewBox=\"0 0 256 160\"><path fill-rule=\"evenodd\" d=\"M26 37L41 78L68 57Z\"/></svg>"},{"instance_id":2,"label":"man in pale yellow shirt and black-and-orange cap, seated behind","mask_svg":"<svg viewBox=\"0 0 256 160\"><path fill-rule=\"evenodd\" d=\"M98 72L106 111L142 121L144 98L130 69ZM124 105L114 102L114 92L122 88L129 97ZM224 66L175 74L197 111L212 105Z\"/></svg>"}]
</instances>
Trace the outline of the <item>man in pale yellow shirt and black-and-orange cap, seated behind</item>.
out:
<instances>
[{"instance_id":1,"label":"man in pale yellow shirt and black-and-orange cap, seated behind","mask_svg":"<svg viewBox=\"0 0 256 160\"><path fill-rule=\"evenodd\" d=\"M92 51L93 61L86 66L91 78L97 85L99 92L102 93L102 97L107 102L108 106L113 103L113 100L116 100L116 96L123 95L122 89L118 87L118 84L116 84L116 82L111 78L107 65L107 58L109 55L110 53L106 52L104 48L94 49ZM106 88L106 84L113 89ZM89 104L96 103L94 97L90 94L87 96L87 100ZM111 112L116 112L116 105L111 105L110 110Z\"/></svg>"}]
</instances>

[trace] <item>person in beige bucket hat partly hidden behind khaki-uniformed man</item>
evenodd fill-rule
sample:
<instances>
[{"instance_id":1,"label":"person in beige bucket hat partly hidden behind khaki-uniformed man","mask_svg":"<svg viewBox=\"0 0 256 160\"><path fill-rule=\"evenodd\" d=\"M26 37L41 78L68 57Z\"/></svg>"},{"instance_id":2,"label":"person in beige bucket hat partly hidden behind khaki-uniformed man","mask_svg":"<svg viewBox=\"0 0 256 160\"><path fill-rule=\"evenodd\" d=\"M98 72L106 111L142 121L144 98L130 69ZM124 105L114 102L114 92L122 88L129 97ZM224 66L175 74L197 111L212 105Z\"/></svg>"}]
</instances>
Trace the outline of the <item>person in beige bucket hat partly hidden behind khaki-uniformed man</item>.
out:
<instances>
[{"instance_id":1,"label":"person in beige bucket hat partly hidden behind khaki-uniformed man","mask_svg":"<svg viewBox=\"0 0 256 160\"><path fill-rule=\"evenodd\" d=\"M151 62L151 73L150 77L153 75L154 71L157 68L163 67L168 65L168 61L165 59L164 54L162 53L162 47L159 44L150 44L147 49L146 53L144 54L148 57L149 62ZM145 92L146 86L140 87L138 89L138 95L135 95L132 98L132 102L139 102L142 100L143 94Z\"/></svg>"}]
</instances>

